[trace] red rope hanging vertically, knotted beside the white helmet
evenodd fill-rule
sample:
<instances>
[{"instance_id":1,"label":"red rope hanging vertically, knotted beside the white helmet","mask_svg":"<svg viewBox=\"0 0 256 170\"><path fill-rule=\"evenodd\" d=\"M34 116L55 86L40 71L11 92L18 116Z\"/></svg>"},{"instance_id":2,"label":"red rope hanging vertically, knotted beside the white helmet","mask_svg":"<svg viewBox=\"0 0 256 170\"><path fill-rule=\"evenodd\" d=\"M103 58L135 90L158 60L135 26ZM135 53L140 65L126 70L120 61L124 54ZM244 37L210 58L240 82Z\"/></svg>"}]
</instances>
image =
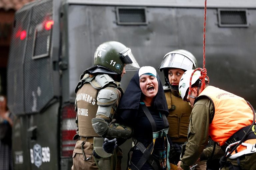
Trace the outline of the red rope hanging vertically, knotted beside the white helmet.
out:
<instances>
[{"instance_id":1,"label":"red rope hanging vertically, knotted beside the white helmet","mask_svg":"<svg viewBox=\"0 0 256 170\"><path fill-rule=\"evenodd\" d=\"M197 71L197 70L200 70L201 71L201 76L199 77L201 80L202 80L202 84L201 84L201 92L204 90L205 88L205 77L208 78L208 76L206 76L207 74L207 71L206 71L206 68L205 68L205 32L206 32L206 1L204 2L204 36L203 36L203 69L202 68L196 68L193 73L191 74L190 76L190 79L189 79L189 90L188 90L188 97L187 97L187 100L189 100L189 96L191 94L191 82L192 82L192 77L194 75L194 73ZM209 78L208 78L208 81L209 81ZM199 93L199 92L197 92Z\"/></svg>"}]
</instances>

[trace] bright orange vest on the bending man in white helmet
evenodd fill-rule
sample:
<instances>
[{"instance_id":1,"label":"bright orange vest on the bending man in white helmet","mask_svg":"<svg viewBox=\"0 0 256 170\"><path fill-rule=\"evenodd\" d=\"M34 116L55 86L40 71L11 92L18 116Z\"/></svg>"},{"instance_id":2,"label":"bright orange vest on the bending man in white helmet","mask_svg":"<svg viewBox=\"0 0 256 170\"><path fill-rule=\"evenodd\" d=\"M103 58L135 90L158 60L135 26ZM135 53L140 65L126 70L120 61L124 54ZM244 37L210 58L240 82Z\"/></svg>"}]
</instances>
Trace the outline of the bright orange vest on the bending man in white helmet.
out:
<instances>
[{"instance_id":1,"label":"bright orange vest on the bending man in white helmet","mask_svg":"<svg viewBox=\"0 0 256 170\"><path fill-rule=\"evenodd\" d=\"M220 146L239 129L252 124L253 112L242 97L213 86L206 87L196 100L200 96L209 97L214 104L215 112L209 125L209 135Z\"/></svg>"}]
</instances>

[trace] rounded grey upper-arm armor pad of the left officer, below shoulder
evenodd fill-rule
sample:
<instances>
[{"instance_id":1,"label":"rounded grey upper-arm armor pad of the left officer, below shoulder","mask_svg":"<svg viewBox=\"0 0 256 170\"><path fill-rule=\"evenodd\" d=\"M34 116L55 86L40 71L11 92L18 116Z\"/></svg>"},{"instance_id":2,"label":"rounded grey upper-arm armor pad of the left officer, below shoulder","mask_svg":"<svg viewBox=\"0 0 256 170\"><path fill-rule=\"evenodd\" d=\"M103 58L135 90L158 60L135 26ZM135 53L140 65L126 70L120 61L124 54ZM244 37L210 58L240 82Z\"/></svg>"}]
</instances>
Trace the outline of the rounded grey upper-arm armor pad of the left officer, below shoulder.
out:
<instances>
[{"instance_id":1,"label":"rounded grey upper-arm armor pad of the left officer, below shoulder","mask_svg":"<svg viewBox=\"0 0 256 170\"><path fill-rule=\"evenodd\" d=\"M97 104L99 106L109 106L114 104L118 97L117 89L113 87L106 87L98 92Z\"/></svg>"}]
</instances>

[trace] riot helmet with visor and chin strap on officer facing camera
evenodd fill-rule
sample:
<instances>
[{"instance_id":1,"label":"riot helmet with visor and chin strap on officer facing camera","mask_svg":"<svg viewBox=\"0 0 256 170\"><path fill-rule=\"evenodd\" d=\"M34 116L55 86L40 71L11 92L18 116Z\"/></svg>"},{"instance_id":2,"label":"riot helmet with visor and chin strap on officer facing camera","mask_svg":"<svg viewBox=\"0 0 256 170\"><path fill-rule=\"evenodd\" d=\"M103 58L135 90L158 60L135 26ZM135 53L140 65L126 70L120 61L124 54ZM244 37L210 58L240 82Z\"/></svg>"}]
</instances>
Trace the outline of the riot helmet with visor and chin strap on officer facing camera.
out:
<instances>
[{"instance_id":1,"label":"riot helmet with visor and chin strap on officer facing camera","mask_svg":"<svg viewBox=\"0 0 256 170\"><path fill-rule=\"evenodd\" d=\"M165 85L169 85L172 90L178 90L178 87L172 86L169 83L168 69L180 68L186 71L190 69L195 69L196 67L197 61L195 56L191 52L185 49L176 49L165 54L158 69L159 71L164 70Z\"/></svg>"}]
</instances>

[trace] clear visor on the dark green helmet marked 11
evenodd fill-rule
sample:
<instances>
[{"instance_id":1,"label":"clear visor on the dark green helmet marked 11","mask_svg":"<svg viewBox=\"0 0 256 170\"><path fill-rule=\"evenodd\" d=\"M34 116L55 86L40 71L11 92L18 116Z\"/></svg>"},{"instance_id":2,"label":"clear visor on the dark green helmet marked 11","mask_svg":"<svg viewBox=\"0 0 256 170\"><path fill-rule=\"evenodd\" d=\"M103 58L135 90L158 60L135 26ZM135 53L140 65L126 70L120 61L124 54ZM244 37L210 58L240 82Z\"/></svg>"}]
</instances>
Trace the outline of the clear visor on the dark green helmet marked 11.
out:
<instances>
[{"instance_id":1,"label":"clear visor on the dark green helmet marked 11","mask_svg":"<svg viewBox=\"0 0 256 170\"><path fill-rule=\"evenodd\" d=\"M125 50L120 52L120 54L121 54L122 62L126 64L125 66L126 71L135 71L140 68L130 48L126 48Z\"/></svg>"}]
</instances>

